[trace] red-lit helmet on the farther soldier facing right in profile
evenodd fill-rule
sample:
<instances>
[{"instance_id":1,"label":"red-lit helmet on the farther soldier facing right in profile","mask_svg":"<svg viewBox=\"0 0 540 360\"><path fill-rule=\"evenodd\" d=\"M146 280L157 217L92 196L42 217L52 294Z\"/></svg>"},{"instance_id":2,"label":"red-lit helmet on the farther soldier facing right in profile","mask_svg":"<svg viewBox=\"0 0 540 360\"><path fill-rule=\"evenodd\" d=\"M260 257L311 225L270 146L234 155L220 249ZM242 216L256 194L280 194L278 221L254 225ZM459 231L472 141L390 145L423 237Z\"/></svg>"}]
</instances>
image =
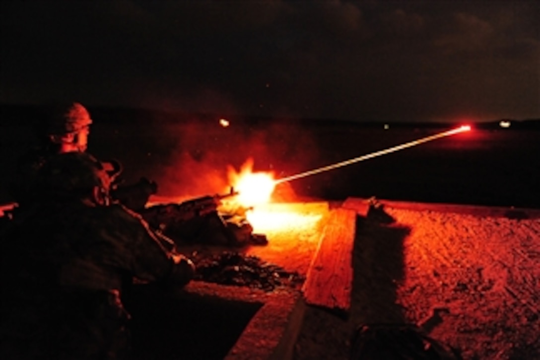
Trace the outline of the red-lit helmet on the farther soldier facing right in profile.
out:
<instances>
[{"instance_id":1,"label":"red-lit helmet on the farther soldier facing right in profile","mask_svg":"<svg viewBox=\"0 0 540 360\"><path fill-rule=\"evenodd\" d=\"M89 112L80 103L53 106L48 120L49 135L76 133L92 124Z\"/></svg>"}]
</instances>

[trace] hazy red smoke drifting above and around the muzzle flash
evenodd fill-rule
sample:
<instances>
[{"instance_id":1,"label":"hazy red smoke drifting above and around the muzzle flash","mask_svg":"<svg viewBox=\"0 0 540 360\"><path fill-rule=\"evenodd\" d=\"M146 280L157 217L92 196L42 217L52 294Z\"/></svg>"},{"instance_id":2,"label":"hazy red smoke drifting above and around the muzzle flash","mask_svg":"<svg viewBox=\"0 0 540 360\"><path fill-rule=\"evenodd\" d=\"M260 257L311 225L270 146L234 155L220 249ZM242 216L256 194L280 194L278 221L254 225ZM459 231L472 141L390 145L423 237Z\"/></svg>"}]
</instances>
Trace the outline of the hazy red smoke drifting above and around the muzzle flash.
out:
<instances>
[{"instance_id":1,"label":"hazy red smoke drifting above and around the muzzle flash","mask_svg":"<svg viewBox=\"0 0 540 360\"><path fill-rule=\"evenodd\" d=\"M233 185L227 171L238 173L247 162L253 162L253 172L271 172L279 178L306 170L317 157L316 141L301 124L227 118L230 125L224 127L219 120L197 118L164 125L168 139L161 143L170 148L161 157L161 170L154 174L158 195L222 194ZM280 185L276 192L278 198L294 197L289 184Z\"/></svg>"}]
</instances>

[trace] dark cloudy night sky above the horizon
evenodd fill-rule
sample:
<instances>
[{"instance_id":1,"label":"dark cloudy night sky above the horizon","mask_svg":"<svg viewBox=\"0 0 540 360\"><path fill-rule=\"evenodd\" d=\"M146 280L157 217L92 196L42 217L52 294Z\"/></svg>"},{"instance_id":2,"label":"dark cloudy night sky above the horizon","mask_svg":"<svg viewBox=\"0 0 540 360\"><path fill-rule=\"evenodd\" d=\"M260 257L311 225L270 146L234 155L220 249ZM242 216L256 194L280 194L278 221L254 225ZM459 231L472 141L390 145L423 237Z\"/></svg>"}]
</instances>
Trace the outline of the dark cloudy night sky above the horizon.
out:
<instances>
[{"instance_id":1,"label":"dark cloudy night sky above the horizon","mask_svg":"<svg viewBox=\"0 0 540 360\"><path fill-rule=\"evenodd\" d=\"M0 103L540 118L538 1L4 1Z\"/></svg>"}]
</instances>

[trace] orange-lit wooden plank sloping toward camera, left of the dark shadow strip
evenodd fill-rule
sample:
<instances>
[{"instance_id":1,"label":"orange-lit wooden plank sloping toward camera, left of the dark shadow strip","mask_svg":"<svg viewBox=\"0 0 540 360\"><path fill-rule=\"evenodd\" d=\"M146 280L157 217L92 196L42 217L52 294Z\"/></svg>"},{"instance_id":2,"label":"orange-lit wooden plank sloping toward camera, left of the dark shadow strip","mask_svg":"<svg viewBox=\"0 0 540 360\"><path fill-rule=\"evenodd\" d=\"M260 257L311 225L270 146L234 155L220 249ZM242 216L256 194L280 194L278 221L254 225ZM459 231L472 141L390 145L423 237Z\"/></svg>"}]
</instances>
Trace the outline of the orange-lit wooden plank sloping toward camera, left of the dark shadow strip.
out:
<instances>
[{"instance_id":1,"label":"orange-lit wooden plank sloping toward camera, left of the dark shadow strip","mask_svg":"<svg viewBox=\"0 0 540 360\"><path fill-rule=\"evenodd\" d=\"M330 211L319 248L302 287L307 304L331 310L349 310L355 230L354 210L340 208Z\"/></svg>"}]
</instances>

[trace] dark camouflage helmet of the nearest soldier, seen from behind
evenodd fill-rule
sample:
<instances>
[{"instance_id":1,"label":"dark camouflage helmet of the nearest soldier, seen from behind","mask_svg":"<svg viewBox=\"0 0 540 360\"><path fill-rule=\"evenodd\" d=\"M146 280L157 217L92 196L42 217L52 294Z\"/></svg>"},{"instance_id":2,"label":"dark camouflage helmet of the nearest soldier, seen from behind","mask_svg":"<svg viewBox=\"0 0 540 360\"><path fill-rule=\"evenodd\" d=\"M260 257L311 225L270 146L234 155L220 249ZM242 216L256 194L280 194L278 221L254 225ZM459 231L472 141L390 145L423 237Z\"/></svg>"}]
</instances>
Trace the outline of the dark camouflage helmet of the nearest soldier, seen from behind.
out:
<instances>
[{"instance_id":1,"label":"dark camouflage helmet of the nearest soldier, seen from behind","mask_svg":"<svg viewBox=\"0 0 540 360\"><path fill-rule=\"evenodd\" d=\"M97 187L108 194L110 177L102 164L85 152L66 152L49 159L38 174L39 194L45 197L83 197Z\"/></svg>"}]
</instances>

